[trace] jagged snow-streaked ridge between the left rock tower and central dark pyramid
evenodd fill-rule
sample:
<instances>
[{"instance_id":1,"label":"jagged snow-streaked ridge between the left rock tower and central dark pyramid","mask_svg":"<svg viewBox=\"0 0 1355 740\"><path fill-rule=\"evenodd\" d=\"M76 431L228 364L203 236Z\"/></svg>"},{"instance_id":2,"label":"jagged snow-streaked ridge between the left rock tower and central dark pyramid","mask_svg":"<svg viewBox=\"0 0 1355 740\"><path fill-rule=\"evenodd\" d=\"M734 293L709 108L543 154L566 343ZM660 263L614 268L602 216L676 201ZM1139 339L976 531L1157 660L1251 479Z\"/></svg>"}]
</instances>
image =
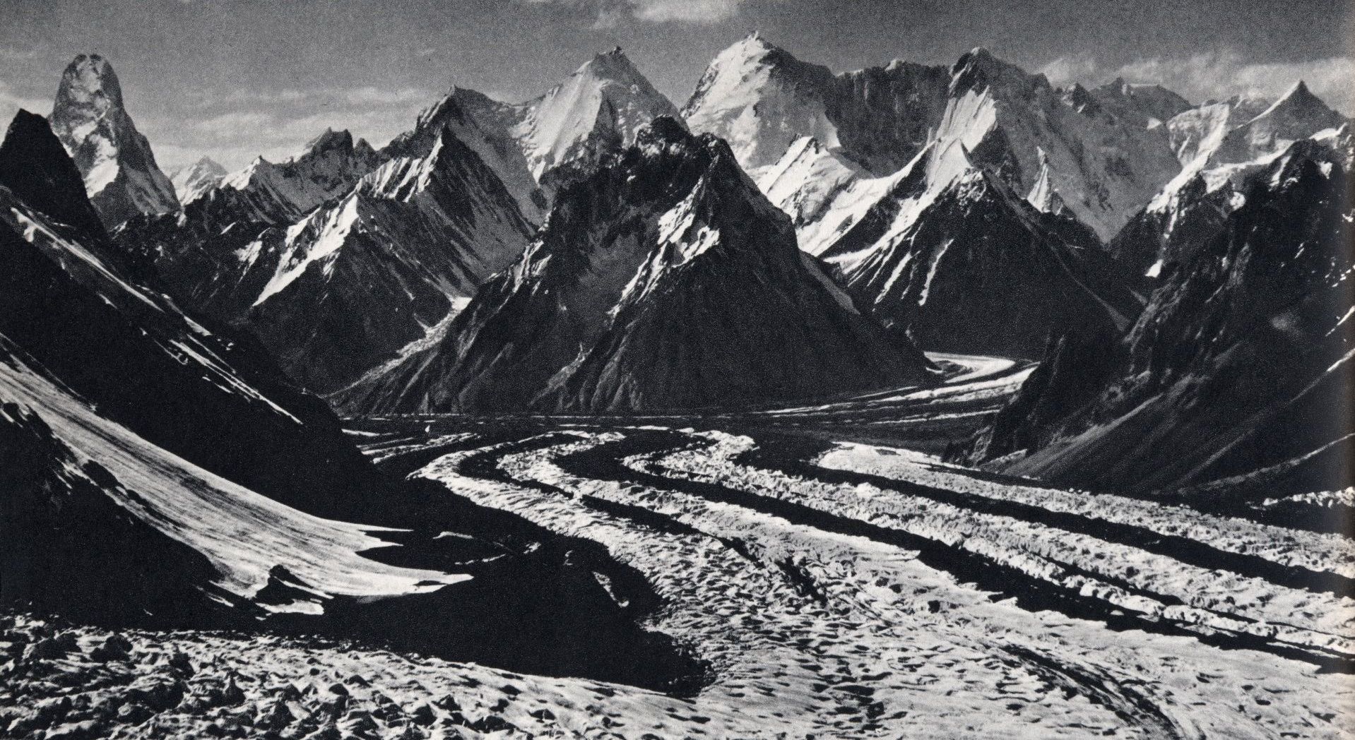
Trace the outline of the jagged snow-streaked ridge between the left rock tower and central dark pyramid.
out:
<instances>
[{"instance_id":1,"label":"jagged snow-streaked ridge between the left rock tower and central dark pyramid","mask_svg":"<svg viewBox=\"0 0 1355 740\"><path fill-rule=\"evenodd\" d=\"M253 331L297 382L332 392L423 339L527 243L518 203L455 131L425 117L379 155L325 131L119 241L186 304Z\"/></svg>"}]
</instances>

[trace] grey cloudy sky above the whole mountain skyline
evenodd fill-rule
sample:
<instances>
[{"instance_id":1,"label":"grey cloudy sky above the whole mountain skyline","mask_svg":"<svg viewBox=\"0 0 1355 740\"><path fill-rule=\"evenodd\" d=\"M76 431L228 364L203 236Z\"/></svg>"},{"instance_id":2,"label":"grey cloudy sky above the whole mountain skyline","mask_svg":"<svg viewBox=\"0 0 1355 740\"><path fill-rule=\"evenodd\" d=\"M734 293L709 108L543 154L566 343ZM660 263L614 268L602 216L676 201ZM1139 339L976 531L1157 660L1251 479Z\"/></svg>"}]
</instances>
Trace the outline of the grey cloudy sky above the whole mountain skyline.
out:
<instances>
[{"instance_id":1,"label":"grey cloudy sky above the whole mountain skyline","mask_svg":"<svg viewBox=\"0 0 1355 740\"><path fill-rule=\"evenodd\" d=\"M0 118L50 111L66 62L100 53L161 167L234 168L325 126L381 145L453 84L523 100L615 45L680 106L755 28L835 70L986 46L1195 102L1302 77L1355 114L1350 0L0 0Z\"/></svg>"}]
</instances>

